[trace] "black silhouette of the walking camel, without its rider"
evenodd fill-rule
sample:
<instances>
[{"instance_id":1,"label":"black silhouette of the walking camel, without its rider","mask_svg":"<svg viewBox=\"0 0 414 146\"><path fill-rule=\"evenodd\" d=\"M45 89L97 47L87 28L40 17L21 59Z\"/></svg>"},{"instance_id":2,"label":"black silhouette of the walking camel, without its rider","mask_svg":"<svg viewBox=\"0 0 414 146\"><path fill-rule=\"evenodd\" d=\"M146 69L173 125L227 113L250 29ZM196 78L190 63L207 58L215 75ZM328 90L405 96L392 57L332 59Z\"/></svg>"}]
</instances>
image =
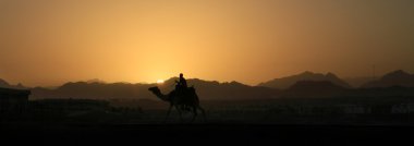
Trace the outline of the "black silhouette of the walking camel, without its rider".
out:
<instances>
[{"instance_id":1,"label":"black silhouette of the walking camel, without its rider","mask_svg":"<svg viewBox=\"0 0 414 146\"><path fill-rule=\"evenodd\" d=\"M191 111L190 108L192 108L191 112L193 112L192 122L197 117L197 109L202 111L203 117L204 117L204 121L206 121L206 112L199 106L198 96L195 93L195 88L194 87L188 87L188 90L183 96L178 95L176 90L172 90L168 95L165 95L165 94L161 93L161 90L157 86L156 87L150 87L150 88L148 88L148 90L150 90L154 95L156 95L161 100L170 102L170 108L169 108L169 110L167 112L167 117L166 117L165 121L167 121L167 119L170 115L170 112L171 112L171 110L172 110L173 107L175 107L176 111L179 112L181 121L183 121L181 112L183 110Z\"/></svg>"}]
</instances>

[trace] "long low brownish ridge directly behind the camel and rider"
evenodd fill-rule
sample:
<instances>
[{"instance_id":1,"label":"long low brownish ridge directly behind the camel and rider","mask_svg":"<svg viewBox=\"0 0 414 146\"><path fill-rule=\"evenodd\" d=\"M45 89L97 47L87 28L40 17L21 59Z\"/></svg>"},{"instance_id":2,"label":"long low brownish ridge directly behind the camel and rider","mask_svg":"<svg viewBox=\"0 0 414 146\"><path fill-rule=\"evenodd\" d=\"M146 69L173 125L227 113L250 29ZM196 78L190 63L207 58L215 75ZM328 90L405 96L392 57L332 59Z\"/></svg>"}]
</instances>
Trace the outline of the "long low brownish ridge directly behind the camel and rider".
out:
<instances>
[{"instance_id":1,"label":"long low brownish ridge directly behind the camel and rider","mask_svg":"<svg viewBox=\"0 0 414 146\"><path fill-rule=\"evenodd\" d=\"M33 88L32 99L40 98L87 98L87 99L113 99L135 98L156 99L148 88L159 86L163 94L174 88L176 77L167 80L163 84L131 84L131 83L66 83L56 89ZM187 80L188 86L194 86L200 100L209 99L259 99L275 98L278 89L267 87L253 87L238 82L219 83L216 81L203 81L198 78Z\"/></svg>"}]
</instances>

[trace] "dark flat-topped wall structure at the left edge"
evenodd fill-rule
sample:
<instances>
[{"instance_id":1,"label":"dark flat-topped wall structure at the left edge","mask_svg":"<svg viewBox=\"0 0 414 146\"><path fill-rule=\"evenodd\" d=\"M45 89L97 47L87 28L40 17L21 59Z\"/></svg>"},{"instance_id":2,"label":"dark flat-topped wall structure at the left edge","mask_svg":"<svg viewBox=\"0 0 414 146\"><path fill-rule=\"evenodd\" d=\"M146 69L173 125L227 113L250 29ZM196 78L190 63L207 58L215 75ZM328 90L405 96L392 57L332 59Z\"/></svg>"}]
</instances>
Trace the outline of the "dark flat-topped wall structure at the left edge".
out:
<instances>
[{"instance_id":1,"label":"dark flat-topped wall structure at the left edge","mask_svg":"<svg viewBox=\"0 0 414 146\"><path fill-rule=\"evenodd\" d=\"M29 95L31 90L0 88L0 114L23 112Z\"/></svg>"}]
</instances>

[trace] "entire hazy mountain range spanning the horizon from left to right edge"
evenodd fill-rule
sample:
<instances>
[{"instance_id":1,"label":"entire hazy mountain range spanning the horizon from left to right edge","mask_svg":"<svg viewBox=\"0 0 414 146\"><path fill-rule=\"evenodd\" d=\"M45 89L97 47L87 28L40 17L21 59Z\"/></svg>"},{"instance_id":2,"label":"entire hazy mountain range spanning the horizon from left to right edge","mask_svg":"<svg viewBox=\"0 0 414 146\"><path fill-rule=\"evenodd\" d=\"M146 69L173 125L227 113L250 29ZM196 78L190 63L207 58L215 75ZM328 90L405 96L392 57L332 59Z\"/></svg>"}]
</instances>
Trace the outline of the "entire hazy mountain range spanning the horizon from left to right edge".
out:
<instances>
[{"instance_id":1,"label":"entire hazy mountain range spanning the horizon from left to right edge","mask_svg":"<svg viewBox=\"0 0 414 146\"><path fill-rule=\"evenodd\" d=\"M269 99L280 97L306 97L324 98L339 96L414 96L414 75L404 71L394 71L381 78L365 83L362 88L352 88L346 82L333 73L304 72L297 75L276 78L249 86L239 82L219 83L217 81L203 81L187 78L188 86L194 86L202 100L233 100L233 99ZM42 98L87 98L87 99L156 99L148 92L149 87L158 86L163 94L174 88L178 77L171 77L163 84L131 84L131 83L105 83L100 80L66 83L56 88L32 88L31 99ZM25 88L22 84L10 85L0 80L0 87ZM380 89L378 89L380 88Z\"/></svg>"}]
</instances>

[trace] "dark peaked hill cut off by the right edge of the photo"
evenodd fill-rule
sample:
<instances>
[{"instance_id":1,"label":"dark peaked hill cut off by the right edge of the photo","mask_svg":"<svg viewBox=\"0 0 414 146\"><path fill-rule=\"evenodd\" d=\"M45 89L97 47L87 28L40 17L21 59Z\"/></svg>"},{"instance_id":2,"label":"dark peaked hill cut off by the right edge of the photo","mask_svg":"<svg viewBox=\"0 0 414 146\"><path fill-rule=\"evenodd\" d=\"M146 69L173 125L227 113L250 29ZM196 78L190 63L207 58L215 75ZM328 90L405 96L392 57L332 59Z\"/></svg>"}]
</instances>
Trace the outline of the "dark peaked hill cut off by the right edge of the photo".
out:
<instances>
[{"instance_id":1,"label":"dark peaked hill cut off by the right edge of the photo","mask_svg":"<svg viewBox=\"0 0 414 146\"><path fill-rule=\"evenodd\" d=\"M414 74L406 73L405 71L398 70L383 75L381 78L364 84L363 88L373 87L414 87Z\"/></svg>"}]
</instances>

